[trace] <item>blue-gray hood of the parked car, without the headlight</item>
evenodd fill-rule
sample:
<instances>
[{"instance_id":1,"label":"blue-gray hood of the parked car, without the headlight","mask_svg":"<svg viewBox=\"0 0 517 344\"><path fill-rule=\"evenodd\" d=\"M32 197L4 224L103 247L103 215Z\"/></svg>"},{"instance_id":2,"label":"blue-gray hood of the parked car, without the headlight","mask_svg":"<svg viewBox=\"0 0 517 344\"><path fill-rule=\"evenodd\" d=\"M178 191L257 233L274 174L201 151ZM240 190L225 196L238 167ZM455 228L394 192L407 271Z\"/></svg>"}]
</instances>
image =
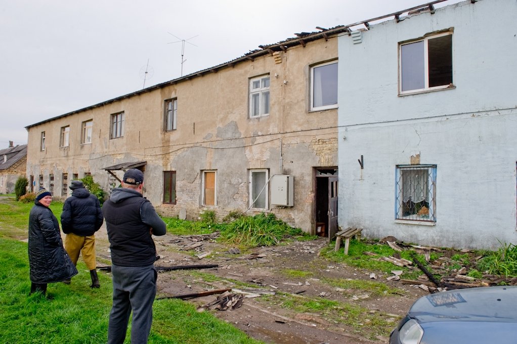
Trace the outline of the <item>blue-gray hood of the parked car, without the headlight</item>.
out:
<instances>
[{"instance_id":1,"label":"blue-gray hood of the parked car, without the headlight","mask_svg":"<svg viewBox=\"0 0 517 344\"><path fill-rule=\"evenodd\" d=\"M408 316L422 327L432 322L516 323L515 305L517 286L450 290L421 297Z\"/></svg>"}]
</instances>

